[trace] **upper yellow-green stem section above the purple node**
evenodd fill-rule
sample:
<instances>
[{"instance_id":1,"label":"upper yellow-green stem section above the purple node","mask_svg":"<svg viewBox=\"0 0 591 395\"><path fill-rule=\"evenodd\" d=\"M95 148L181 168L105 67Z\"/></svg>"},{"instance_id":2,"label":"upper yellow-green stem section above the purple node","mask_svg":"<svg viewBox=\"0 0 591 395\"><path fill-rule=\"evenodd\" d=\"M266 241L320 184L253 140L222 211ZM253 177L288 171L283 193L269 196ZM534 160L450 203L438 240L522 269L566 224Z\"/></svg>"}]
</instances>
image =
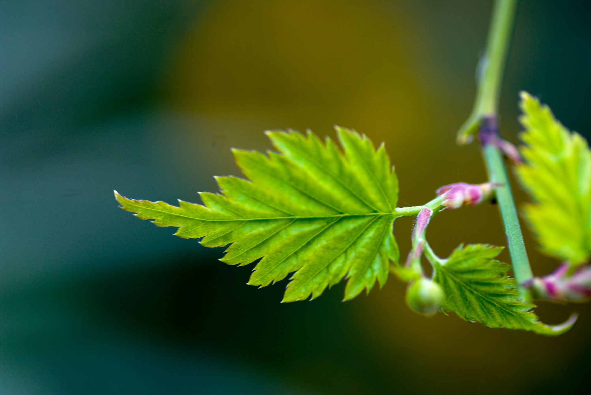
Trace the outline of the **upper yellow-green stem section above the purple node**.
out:
<instances>
[{"instance_id":1,"label":"upper yellow-green stem section above the purple node","mask_svg":"<svg viewBox=\"0 0 591 395\"><path fill-rule=\"evenodd\" d=\"M486 53L479 64L479 68L483 67L483 73L478 76L474 107L457 133L457 141L460 144L472 141L472 136L478 132L482 117L495 116L497 113L516 9L517 0L495 1Z\"/></svg>"}]
</instances>

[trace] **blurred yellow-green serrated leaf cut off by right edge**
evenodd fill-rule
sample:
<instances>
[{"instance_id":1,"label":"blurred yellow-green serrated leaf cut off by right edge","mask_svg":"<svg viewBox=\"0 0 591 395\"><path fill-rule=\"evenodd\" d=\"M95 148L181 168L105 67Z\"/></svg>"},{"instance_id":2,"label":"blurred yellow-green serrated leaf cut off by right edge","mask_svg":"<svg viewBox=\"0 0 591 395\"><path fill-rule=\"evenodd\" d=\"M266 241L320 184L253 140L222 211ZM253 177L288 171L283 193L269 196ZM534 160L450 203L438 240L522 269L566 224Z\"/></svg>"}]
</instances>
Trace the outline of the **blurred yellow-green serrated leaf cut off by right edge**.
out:
<instances>
[{"instance_id":1,"label":"blurred yellow-green serrated leaf cut off by right edge","mask_svg":"<svg viewBox=\"0 0 591 395\"><path fill-rule=\"evenodd\" d=\"M525 205L525 217L545 253L584 262L591 256L589 145L530 94L521 93L520 106L525 163L517 165L515 173L534 201Z\"/></svg>"}]
</instances>

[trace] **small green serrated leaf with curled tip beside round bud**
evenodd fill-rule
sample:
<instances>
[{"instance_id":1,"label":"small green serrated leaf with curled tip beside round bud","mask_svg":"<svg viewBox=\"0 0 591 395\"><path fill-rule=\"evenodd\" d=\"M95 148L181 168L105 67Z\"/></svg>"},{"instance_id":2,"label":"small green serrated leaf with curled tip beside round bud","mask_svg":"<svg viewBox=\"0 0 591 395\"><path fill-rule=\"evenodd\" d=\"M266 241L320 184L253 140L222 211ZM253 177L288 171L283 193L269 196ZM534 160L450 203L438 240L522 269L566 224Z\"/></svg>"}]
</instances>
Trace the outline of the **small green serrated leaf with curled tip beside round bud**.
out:
<instances>
[{"instance_id":1,"label":"small green serrated leaf with curled tip beside round bud","mask_svg":"<svg viewBox=\"0 0 591 395\"><path fill-rule=\"evenodd\" d=\"M466 321L492 328L523 329L548 336L569 331L576 317L566 325L545 325L531 311L535 306L521 301L515 279L506 275L511 266L493 259L502 249L488 244L460 245L447 262L435 262L434 280L445 293L443 308Z\"/></svg>"}]
</instances>

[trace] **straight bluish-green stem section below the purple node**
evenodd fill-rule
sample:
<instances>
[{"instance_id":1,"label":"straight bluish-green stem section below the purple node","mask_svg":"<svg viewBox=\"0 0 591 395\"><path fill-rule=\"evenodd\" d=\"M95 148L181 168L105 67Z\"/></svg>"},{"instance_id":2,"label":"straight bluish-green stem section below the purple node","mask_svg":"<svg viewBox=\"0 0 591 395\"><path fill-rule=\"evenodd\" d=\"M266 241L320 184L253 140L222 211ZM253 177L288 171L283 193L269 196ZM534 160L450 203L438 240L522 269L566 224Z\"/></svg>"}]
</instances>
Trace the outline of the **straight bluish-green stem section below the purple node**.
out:
<instances>
[{"instance_id":1,"label":"straight bluish-green stem section below the purple node","mask_svg":"<svg viewBox=\"0 0 591 395\"><path fill-rule=\"evenodd\" d=\"M502 184L495 188L496 201L501 211L505 235L507 237L507 246L509 247L509 256L511 256L511 265L513 266L515 280L517 280L519 294L524 300L529 300L530 293L527 288L519 285L532 277L530 261L527 258L527 252L525 252L525 244L523 242L521 227L519 226L517 210L515 209L515 202L503 157L499 149L490 144L483 146L483 154L491 182Z\"/></svg>"}]
</instances>

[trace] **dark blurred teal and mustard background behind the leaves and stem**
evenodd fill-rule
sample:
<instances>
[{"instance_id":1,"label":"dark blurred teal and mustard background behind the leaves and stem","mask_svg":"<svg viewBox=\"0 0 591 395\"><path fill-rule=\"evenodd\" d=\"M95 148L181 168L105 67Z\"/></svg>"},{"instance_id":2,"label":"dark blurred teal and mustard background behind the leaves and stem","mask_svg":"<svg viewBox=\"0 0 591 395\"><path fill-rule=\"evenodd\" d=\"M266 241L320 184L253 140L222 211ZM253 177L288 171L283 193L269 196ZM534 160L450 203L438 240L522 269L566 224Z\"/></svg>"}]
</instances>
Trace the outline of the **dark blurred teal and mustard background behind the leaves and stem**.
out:
<instances>
[{"instance_id":1,"label":"dark blurred teal and mustard background behind the leaves and stem","mask_svg":"<svg viewBox=\"0 0 591 395\"><path fill-rule=\"evenodd\" d=\"M589 305L538 308L560 338L427 319L389 279L342 303L280 303L285 280L119 208L199 201L239 174L230 147L332 125L385 141L399 205L483 182L469 115L491 1L0 1L0 393L545 394L588 387ZM501 124L528 90L589 137L589 2L519 4ZM517 187L515 188L517 189ZM516 192L517 200L525 196ZM402 254L411 219L396 222ZM496 207L429 228L437 253L505 245ZM534 273L557 262L526 234ZM507 260L504 252L502 259Z\"/></svg>"}]
</instances>

